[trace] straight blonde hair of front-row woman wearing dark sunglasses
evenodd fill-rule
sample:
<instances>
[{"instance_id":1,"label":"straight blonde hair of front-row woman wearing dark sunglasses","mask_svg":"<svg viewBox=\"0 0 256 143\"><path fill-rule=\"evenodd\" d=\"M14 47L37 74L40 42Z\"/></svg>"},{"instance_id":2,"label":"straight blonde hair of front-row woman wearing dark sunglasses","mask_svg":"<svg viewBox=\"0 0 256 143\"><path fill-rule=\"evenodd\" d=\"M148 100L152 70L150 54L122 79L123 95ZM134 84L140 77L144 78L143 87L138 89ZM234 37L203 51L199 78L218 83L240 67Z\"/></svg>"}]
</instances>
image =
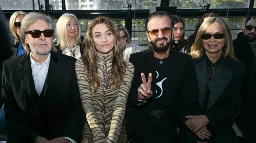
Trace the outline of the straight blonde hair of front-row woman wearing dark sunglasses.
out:
<instances>
[{"instance_id":1,"label":"straight blonde hair of front-row woman wearing dark sunglasses","mask_svg":"<svg viewBox=\"0 0 256 143\"><path fill-rule=\"evenodd\" d=\"M224 47L222 49L221 56L224 59L229 58L229 59L235 60L236 58L234 58L234 54L233 54L232 34L230 31L229 25L227 24L226 20L223 19L222 17L212 17L212 18L206 20L205 22L203 22L203 24L200 26L198 33L196 34L195 43L191 47L192 58L194 58L194 59L201 58L203 56L203 54L205 53L205 48L202 45L203 40L202 40L201 36L204 34L206 28L215 22L220 24L220 26L223 30L223 33L226 35L226 40L225 40L226 44L224 45Z\"/></svg>"}]
</instances>

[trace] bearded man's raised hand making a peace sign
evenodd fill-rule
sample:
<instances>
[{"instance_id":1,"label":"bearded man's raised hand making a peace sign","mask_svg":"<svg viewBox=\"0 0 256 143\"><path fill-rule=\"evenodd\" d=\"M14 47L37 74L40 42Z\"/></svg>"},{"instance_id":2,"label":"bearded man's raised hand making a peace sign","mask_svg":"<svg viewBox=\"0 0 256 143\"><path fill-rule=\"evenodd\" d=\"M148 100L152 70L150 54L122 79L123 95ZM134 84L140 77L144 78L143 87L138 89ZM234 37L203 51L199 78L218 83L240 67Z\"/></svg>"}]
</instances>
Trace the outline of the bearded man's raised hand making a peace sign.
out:
<instances>
[{"instance_id":1,"label":"bearded man's raised hand making a peace sign","mask_svg":"<svg viewBox=\"0 0 256 143\"><path fill-rule=\"evenodd\" d=\"M141 73L142 84L138 88L138 99L144 100L153 95L151 90L152 74L148 74L148 82L146 81L145 74Z\"/></svg>"}]
</instances>

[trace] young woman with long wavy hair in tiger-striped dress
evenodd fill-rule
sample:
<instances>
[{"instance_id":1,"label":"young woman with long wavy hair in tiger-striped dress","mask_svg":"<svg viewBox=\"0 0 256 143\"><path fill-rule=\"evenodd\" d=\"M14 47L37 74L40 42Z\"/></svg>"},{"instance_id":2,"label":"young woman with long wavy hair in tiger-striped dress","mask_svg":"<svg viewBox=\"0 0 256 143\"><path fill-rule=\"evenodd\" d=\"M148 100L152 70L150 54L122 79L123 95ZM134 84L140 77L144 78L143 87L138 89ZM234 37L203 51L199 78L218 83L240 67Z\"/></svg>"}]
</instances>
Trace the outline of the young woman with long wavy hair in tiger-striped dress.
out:
<instances>
[{"instance_id":1,"label":"young woman with long wavy hair in tiger-striped dress","mask_svg":"<svg viewBox=\"0 0 256 143\"><path fill-rule=\"evenodd\" d=\"M121 43L107 17L97 17L88 27L85 54L75 64L87 118L81 142L127 141L124 114L134 67L124 60Z\"/></svg>"}]
</instances>

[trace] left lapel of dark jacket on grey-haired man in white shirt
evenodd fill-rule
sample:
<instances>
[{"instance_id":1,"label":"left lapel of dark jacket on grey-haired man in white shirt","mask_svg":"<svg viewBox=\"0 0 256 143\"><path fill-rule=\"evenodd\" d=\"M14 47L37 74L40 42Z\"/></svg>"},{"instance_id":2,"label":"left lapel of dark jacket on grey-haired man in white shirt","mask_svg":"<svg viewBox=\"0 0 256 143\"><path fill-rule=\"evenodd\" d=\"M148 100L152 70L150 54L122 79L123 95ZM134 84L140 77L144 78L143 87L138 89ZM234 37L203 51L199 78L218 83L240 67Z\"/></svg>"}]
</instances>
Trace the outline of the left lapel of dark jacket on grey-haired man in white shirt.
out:
<instances>
[{"instance_id":1,"label":"left lapel of dark jacket on grey-haired man in white shirt","mask_svg":"<svg viewBox=\"0 0 256 143\"><path fill-rule=\"evenodd\" d=\"M24 54L18 64L20 65L20 68L17 69L17 72L20 76L20 80L24 85L28 95L30 96L34 104L36 104L37 99L35 95L37 95L37 93L32 75L30 55Z\"/></svg>"}]
</instances>

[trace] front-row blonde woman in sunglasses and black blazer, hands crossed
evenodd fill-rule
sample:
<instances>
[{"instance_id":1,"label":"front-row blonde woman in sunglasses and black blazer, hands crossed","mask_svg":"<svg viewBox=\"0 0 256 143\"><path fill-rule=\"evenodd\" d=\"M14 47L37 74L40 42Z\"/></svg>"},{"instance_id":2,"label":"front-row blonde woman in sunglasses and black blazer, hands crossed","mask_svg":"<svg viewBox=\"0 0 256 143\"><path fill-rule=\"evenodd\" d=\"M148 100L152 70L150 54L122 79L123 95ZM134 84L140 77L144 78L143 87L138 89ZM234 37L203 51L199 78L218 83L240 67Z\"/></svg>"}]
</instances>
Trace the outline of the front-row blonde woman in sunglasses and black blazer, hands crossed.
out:
<instances>
[{"instance_id":1,"label":"front-row blonde woman in sunglasses and black blazer, hands crossed","mask_svg":"<svg viewBox=\"0 0 256 143\"><path fill-rule=\"evenodd\" d=\"M199 86L200 114L181 113L181 142L233 143L232 119L242 107L245 65L234 58L226 20L212 17L199 28L191 47ZM186 130L184 130L186 129Z\"/></svg>"}]
</instances>

